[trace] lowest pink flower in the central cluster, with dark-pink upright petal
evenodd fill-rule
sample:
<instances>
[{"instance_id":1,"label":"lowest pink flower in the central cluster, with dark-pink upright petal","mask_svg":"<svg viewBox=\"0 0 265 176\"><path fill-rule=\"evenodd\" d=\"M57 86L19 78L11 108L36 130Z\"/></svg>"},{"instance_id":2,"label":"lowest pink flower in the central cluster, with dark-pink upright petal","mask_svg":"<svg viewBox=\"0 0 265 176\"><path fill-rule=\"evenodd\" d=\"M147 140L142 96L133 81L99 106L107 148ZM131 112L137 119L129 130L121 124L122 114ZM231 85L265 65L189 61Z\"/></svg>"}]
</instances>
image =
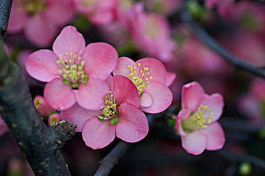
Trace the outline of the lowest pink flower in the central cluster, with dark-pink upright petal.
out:
<instances>
[{"instance_id":1,"label":"lowest pink flower in the central cluster, with dark-pink upright petal","mask_svg":"<svg viewBox=\"0 0 265 176\"><path fill-rule=\"evenodd\" d=\"M109 145L115 133L126 142L137 142L148 132L148 122L139 110L139 96L133 82L122 75L114 76L109 82L112 91L105 92L103 108L88 111L75 104L60 112L62 118L77 124L77 131L82 131L86 145L93 149Z\"/></svg>"}]
</instances>

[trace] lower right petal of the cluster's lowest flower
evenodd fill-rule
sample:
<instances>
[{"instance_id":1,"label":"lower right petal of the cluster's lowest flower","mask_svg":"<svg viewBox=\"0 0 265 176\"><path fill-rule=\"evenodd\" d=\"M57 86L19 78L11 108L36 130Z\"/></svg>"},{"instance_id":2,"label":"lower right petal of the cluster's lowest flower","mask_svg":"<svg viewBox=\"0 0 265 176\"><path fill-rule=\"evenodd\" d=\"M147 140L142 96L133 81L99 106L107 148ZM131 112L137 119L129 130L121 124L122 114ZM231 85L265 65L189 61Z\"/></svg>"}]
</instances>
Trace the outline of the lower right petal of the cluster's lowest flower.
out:
<instances>
[{"instance_id":1,"label":"lower right petal of the cluster's lowest flower","mask_svg":"<svg viewBox=\"0 0 265 176\"><path fill-rule=\"evenodd\" d=\"M133 105L123 103L119 107L119 122L116 135L126 142L137 142L148 133L148 122L144 113Z\"/></svg>"}]
</instances>

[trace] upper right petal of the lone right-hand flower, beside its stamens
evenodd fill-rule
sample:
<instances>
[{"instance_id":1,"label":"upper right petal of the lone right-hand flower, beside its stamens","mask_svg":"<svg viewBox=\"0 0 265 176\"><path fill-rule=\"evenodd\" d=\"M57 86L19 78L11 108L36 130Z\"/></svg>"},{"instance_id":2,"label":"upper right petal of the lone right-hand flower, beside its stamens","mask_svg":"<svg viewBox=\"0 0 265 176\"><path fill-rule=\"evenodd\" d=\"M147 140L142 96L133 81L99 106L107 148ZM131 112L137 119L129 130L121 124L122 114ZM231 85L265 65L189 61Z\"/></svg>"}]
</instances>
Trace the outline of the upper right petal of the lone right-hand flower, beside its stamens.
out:
<instances>
[{"instance_id":1,"label":"upper right petal of the lone right-hand flower, beside its stamens","mask_svg":"<svg viewBox=\"0 0 265 176\"><path fill-rule=\"evenodd\" d=\"M201 105L206 105L210 110L208 113L204 113L206 117L208 117L210 113L214 113L214 118L210 120L213 123L221 117L225 103L221 94L211 94L210 96L205 94L202 98Z\"/></svg>"}]
</instances>

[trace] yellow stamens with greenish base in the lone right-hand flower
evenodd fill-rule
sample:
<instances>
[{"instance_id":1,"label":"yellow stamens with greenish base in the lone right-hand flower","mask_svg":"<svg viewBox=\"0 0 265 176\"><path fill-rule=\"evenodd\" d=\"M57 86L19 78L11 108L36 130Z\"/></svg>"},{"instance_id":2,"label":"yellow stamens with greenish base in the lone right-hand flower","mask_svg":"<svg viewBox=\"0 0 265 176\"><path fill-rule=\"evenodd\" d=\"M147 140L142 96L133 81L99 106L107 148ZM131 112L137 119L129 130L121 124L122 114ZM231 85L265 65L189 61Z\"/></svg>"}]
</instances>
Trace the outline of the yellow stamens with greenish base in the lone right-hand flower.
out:
<instances>
[{"instance_id":1,"label":"yellow stamens with greenish base in the lone right-hand flower","mask_svg":"<svg viewBox=\"0 0 265 176\"><path fill-rule=\"evenodd\" d=\"M207 124L210 124L210 120L214 118L213 115L214 113L210 113L207 106L200 105L195 113L192 113L187 120L182 121L182 128L187 132L207 128Z\"/></svg>"}]
</instances>

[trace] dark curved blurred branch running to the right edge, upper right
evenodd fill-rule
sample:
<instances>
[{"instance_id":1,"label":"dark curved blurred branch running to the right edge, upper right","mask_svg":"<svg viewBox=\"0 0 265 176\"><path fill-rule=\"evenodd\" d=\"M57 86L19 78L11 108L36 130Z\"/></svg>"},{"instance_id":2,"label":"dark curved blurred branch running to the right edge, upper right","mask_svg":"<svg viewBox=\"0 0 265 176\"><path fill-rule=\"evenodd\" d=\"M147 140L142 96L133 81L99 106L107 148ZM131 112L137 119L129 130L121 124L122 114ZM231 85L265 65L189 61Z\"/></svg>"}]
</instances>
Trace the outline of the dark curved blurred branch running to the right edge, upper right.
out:
<instances>
[{"instance_id":1,"label":"dark curved blurred branch running to the right edge, upper right","mask_svg":"<svg viewBox=\"0 0 265 176\"><path fill-rule=\"evenodd\" d=\"M220 45L215 39L207 34L207 32L196 22L194 22L187 11L187 5L184 5L184 8L180 11L181 18L184 22L188 23L193 32L212 50L218 53L223 57L227 62L231 63L237 68L241 68L245 71L248 71L256 76L265 78L265 69L262 69L256 65L253 65L249 62L243 61L242 58L236 57L222 45Z\"/></svg>"}]
</instances>

